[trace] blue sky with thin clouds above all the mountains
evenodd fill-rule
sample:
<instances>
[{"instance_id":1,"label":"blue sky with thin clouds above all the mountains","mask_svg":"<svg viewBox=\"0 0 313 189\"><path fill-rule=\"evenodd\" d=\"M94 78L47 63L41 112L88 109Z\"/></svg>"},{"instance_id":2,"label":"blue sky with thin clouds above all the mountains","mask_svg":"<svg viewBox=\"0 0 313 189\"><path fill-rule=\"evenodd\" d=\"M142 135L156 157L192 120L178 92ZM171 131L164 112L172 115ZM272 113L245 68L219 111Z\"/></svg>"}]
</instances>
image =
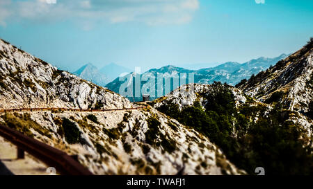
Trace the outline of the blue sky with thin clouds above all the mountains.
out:
<instances>
[{"instance_id":1,"label":"blue sky with thin clouds above all the mountains","mask_svg":"<svg viewBox=\"0 0 313 189\"><path fill-rule=\"evenodd\" d=\"M63 69L215 66L292 53L312 0L1 0L0 38Z\"/></svg>"}]
</instances>

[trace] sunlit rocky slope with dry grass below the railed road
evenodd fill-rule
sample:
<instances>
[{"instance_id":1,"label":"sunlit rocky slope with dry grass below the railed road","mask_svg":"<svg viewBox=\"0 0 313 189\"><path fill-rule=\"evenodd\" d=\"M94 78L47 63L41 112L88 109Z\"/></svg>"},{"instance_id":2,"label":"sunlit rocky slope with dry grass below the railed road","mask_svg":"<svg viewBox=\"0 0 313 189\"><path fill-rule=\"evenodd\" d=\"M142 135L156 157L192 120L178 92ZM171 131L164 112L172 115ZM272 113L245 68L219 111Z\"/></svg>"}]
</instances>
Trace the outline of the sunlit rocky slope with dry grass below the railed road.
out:
<instances>
[{"instance_id":1,"label":"sunlit rocky slope with dry grass below the railed road","mask_svg":"<svg viewBox=\"0 0 313 189\"><path fill-rule=\"evenodd\" d=\"M244 174L194 129L151 107L3 114L0 125L77 155L95 174ZM23 129L22 129L23 128Z\"/></svg>"}]
</instances>

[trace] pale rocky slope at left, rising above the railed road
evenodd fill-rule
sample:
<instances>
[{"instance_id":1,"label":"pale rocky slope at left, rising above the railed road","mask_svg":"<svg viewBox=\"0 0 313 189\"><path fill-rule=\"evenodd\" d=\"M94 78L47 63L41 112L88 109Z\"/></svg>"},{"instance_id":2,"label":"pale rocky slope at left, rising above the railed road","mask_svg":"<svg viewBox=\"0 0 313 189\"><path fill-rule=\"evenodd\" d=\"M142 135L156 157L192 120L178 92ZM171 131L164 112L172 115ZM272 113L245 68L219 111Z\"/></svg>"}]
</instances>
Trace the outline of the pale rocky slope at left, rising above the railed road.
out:
<instances>
[{"instance_id":1,"label":"pale rocky slope at left, rising above the railed road","mask_svg":"<svg viewBox=\"0 0 313 189\"><path fill-rule=\"evenodd\" d=\"M112 109L131 104L0 39L0 108L22 107Z\"/></svg>"}]
</instances>

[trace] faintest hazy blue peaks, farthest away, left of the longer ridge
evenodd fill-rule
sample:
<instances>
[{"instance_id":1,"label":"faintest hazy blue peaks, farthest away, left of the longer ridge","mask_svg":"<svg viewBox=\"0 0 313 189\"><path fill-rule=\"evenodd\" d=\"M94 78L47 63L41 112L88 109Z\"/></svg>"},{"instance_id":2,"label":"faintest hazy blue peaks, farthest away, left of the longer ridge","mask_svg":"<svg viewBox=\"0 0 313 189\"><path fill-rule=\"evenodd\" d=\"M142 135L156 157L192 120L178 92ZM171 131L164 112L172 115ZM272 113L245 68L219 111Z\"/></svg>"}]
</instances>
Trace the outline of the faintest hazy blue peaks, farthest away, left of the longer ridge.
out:
<instances>
[{"instance_id":1,"label":"faintest hazy blue peaks, farthest away, left of the longer ridge","mask_svg":"<svg viewBox=\"0 0 313 189\"><path fill-rule=\"evenodd\" d=\"M74 71L74 74L80 78L94 82L102 87L113 81L115 78L118 78L122 73L131 73L131 70L114 63L108 64L102 67L102 69L98 69L93 64L88 63L81 66L77 71Z\"/></svg>"}]
</instances>

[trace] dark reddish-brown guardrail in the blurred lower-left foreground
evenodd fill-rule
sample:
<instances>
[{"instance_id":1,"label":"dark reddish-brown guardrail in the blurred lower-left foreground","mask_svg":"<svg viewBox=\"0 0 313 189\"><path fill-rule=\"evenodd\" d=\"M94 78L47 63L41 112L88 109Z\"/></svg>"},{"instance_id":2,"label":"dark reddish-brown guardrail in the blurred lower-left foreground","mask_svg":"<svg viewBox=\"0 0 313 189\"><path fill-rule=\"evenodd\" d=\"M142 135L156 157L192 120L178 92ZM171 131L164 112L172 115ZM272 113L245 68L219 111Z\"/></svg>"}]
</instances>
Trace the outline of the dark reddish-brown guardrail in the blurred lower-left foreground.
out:
<instances>
[{"instance_id":1,"label":"dark reddish-brown guardrail in the blurred lower-left foreground","mask_svg":"<svg viewBox=\"0 0 313 189\"><path fill-rule=\"evenodd\" d=\"M21 156L21 150L24 150L47 165L56 168L60 174L93 175L65 152L25 136L14 129L0 125L0 135L17 146L19 156Z\"/></svg>"}]
</instances>

